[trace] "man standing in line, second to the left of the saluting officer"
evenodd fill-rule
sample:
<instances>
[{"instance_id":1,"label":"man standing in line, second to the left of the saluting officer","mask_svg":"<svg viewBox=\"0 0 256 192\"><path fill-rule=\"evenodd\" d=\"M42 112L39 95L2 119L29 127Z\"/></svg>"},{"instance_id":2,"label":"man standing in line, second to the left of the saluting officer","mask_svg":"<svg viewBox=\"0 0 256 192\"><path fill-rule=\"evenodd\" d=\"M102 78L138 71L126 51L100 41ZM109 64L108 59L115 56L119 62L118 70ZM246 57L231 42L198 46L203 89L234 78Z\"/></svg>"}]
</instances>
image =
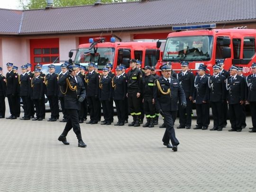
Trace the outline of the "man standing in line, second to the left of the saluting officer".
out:
<instances>
[{"instance_id":1,"label":"man standing in line, second to the left of the saluting officer","mask_svg":"<svg viewBox=\"0 0 256 192\"><path fill-rule=\"evenodd\" d=\"M46 97L48 98L51 117L47 121L59 119L59 100L58 100L58 78L55 73L55 65L48 66L49 73L46 75Z\"/></svg>"}]
</instances>

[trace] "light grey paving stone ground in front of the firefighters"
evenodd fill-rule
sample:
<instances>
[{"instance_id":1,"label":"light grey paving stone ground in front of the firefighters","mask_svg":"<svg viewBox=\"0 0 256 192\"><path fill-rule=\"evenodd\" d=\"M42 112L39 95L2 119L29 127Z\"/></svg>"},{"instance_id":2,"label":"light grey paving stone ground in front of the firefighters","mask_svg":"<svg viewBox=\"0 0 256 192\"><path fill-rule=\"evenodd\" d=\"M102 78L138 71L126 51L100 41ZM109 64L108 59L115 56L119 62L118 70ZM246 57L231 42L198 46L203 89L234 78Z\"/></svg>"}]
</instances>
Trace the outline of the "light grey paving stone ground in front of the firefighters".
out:
<instances>
[{"instance_id":1,"label":"light grey paving stone ground in front of the firefighters","mask_svg":"<svg viewBox=\"0 0 256 192\"><path fill-rule=\"evenodd\" d=\"M228 132L230 124L175 129L181 144L173 152L158 126L83 123L88 146L78 148L73 131L70 145L57 141L65 123L0 119L0 191L255 192L256 133L248 133L250 117L247 124L240 133Z\"/></svg>"}]
</instances>

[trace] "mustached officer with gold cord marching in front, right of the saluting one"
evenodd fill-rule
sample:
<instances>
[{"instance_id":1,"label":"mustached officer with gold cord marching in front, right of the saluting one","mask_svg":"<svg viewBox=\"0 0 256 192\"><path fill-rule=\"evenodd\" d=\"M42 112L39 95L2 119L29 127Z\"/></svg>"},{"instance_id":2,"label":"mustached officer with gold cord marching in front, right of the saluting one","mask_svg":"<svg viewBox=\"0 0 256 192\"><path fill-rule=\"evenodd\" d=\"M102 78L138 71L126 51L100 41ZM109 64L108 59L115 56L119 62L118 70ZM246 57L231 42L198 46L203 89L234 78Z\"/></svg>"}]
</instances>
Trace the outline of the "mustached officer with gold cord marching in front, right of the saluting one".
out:
<instances>
[{"instance_id":1,"label":"mustached officer with gold cord marching in front, right of the saluting one","mask_svg":"<svg viewBox=\"0 0 256 192\"><path fill-rule=\"evenodd\" d=\"M179 141L175 137L172 111L178 110L178 101L186 108L186 97L178 79L171 77L171 67L165 65L161 70L163 76L154 83L155 107L165 117L166 129L162 141L167 148L177 151ZM170 140L173 146L169 143Z\"/></svg>"}]
</instances>

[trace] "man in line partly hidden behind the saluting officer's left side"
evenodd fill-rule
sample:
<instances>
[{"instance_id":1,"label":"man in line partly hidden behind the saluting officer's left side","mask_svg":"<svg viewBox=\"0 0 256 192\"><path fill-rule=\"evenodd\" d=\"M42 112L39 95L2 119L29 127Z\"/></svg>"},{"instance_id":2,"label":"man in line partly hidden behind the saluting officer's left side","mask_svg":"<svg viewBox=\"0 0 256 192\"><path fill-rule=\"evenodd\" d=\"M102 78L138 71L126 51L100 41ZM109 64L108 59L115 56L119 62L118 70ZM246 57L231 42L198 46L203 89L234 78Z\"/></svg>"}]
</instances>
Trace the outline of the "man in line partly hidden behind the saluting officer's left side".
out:
<instances>
[{"instance_id":1,"label":"man in line partly hidden behind the saluting officer's left side","mask_svg":"<svg viewBox=\"0 0 256 192\"><path fill-rule=\"evenodd\" d=\"M67 66L69 65L68 62L64 62L64 64L61 65L61 73L59 74L59 79L65 75L68 71L67 71ZM59 81L58 79L58 81ZM58 87L58 98L60 100L60 103L61 103L61 110L62 110L62 113L63 113L63 119L60 120L60 122L67 122L68 120L68 114L67 114L67 111L65 109L65 105L64 105L64 91L65 90L61 90L61 86Z\"/></svg>"}]
</instances>

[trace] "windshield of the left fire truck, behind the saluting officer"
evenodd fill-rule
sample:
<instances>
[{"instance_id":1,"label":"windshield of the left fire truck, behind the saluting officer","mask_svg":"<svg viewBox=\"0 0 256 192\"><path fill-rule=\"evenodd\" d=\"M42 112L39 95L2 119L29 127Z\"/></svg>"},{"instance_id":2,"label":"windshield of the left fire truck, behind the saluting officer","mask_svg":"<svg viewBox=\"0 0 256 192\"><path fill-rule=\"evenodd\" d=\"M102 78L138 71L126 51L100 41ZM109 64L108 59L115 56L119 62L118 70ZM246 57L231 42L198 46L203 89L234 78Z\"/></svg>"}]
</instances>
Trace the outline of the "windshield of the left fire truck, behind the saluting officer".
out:
<instances>
[{"instance_id":1,"label":"windshield of the left fire truck, behind the saluting officer","mask_svg":"<svg viewBox=\"0 0 256 192\"><path fill-rule=\"evenodd\" d=\"M89 62L94 62L102 69L106 64L113 63L114 54L114 48L81 48L76 53L74 63L87 67Z\"/></svg>"}]
</instances>

